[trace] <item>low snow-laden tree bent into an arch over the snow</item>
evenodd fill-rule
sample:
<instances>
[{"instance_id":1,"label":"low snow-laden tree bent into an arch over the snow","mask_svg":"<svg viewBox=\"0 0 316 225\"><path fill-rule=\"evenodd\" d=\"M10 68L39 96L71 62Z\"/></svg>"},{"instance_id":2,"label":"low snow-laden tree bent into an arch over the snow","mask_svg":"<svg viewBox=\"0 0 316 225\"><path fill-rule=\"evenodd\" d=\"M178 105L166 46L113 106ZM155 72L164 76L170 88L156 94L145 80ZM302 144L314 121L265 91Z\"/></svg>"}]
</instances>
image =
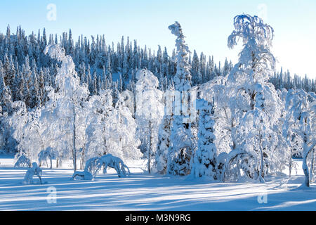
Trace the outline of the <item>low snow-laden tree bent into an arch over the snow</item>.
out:
<instances>
[{"instance_id":1,"label":"low snow-laden tree bent into an arch over the snow","mask_svg":"<svg viewBox=\"0 0 316 225\"><path fill-rule=\"evenodd\" d=\"M102 157L98 158L91 158L86 161L86 167L84 171L76 171L72 175L72 179L84 179L84 180L93 180L96 177L96 174L102 169L103 167L103 174L107 172L107 167L115 169L117 175L119 177L126 176L131 174L129 171L129 167L127 167L123 160L118 157L115 157L111 154L103 155Z\"/></svg>"}]
</instances>

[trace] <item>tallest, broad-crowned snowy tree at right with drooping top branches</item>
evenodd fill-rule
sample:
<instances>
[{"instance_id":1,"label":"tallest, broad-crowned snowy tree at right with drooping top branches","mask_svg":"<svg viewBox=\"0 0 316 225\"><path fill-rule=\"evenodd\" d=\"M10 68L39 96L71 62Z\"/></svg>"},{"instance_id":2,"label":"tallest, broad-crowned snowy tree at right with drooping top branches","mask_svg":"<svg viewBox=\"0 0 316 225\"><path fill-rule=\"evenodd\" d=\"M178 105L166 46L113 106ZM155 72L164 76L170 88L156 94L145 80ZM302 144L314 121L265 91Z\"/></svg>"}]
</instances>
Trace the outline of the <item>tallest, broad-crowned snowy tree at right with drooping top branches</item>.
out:
<instances>
[{"instance_id":1,"label":"tallest, broad-crowned snowy tree at right with drooping top branches","mask_svg":"<svg viewBox=\"0 0 316 225\"><path fill-rule=\"evenodd\" d=\"M272 155L278 140L272 126L277 123L282 105L274 86L268 83L275 70L275 58L270 53L273 29L256 15L244 14L234 18L234 27L228 46L232 48L241 38L244 48L226 84L232 93L230 113L236 122L230 131L232 150L228 162L237 169L234 176L242 169L246 176L264 181L268 169L274 169Z\"/></svg>"}]
</instances>

